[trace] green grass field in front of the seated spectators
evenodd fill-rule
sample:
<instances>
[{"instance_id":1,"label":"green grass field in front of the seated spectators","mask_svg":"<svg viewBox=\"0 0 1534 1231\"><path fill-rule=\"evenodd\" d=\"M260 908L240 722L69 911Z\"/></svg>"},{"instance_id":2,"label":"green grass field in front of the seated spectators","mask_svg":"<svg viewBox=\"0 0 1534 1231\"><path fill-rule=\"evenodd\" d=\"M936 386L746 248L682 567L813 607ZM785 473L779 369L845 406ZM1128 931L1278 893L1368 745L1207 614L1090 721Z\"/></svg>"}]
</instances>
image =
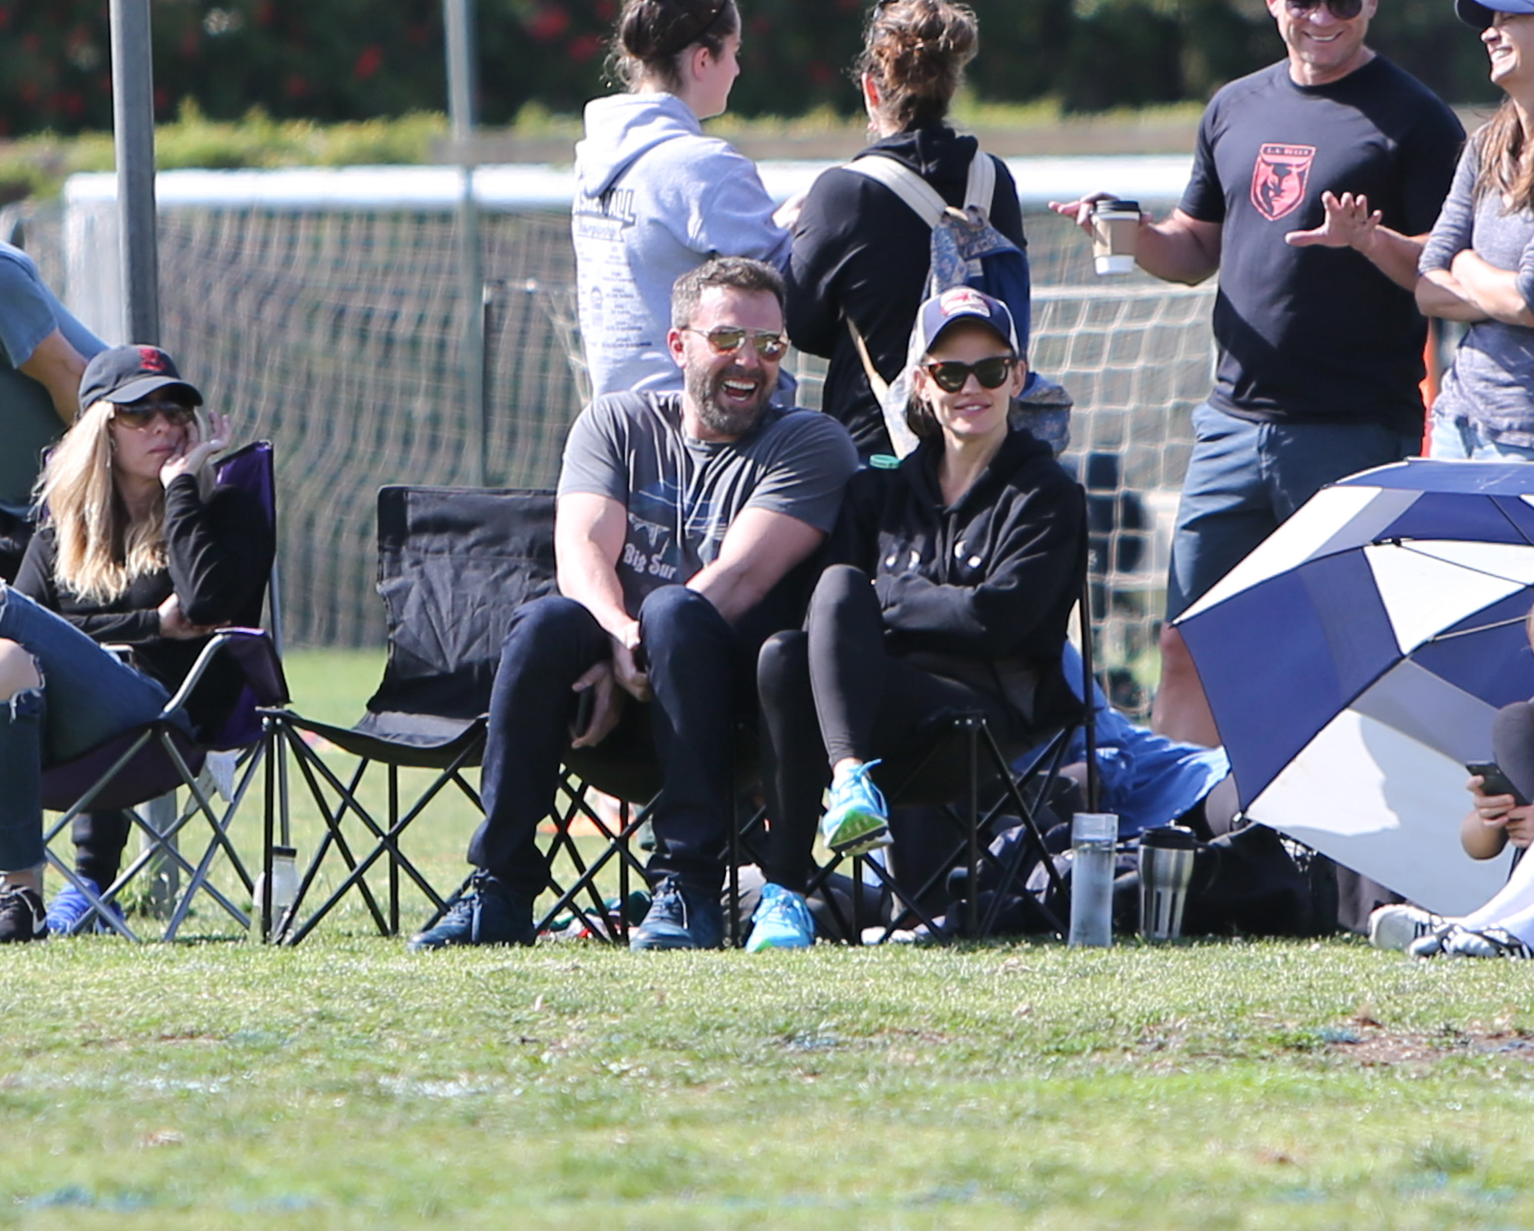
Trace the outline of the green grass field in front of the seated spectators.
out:
<instances>
[{"instance_id":1,"label":"green grass field in front of the seated spectators","mask_svg":"<svg viewBox=\"0 0 1534 1231\"><path fill-rule=\"evenodd\" d=\"M347 721L377 673L290 667ZM451 875L468 819L428 820ZM6 952L0 1226L1534 1225L1534 964L196 923Z\"/></svg>"}]
</instances>

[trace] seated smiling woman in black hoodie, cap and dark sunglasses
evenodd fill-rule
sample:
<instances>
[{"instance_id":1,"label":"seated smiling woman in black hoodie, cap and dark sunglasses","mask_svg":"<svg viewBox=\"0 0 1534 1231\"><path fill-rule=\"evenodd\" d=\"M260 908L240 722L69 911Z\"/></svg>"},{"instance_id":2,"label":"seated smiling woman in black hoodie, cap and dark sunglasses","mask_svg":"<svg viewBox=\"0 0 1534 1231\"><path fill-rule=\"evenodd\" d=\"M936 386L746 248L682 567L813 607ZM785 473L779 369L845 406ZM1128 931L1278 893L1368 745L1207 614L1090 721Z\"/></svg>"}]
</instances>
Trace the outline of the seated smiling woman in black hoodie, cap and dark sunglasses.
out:
<instances>
[{"instance_id":1,"label":"seated smiling woman in black hoodie, cap and dark sunglasses","mask_svg":"<svg viewBox=\"0 0 1534 1231\"><path fill-rule=\"evenodd\" d=\"M890 840L876 757L922 756L934 719L957 713L1023 742L1066 694L1086 506L1049 446L1008 423L1028 368L1011 313L957 287L917 325L922 443L853 475L804 630L758 659L772 842L747 949L813 940L804 889L827 779L827 845L870 851Z\"/></svg>"}]
</instances>

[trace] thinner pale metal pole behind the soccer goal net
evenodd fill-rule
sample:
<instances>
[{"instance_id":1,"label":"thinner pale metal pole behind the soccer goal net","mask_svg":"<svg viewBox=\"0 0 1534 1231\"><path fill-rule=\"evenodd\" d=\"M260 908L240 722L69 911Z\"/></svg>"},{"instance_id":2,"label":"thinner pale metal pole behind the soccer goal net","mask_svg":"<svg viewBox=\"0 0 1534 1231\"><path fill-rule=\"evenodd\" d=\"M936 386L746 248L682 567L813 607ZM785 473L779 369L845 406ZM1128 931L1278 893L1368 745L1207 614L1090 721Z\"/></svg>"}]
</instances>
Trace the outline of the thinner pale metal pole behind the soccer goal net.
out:
<instances>
[{"instance_id":1,"label":"thinner pale metal pole behind the soccer goal net","mask_svg":"<svg viewBox=\"0 0 1534 1231\"><path fill-rule=\"evenodd\" d=\"M463 192L459 196L459 299L463 310L460 362L463 397L479 426L474 480L489 484L489 403L485 380L485 273L480 264L479 201L474 198L474 6L472 0L442 0L448 29L448 117L457 147Z\"/></svg>"}]
</instances>

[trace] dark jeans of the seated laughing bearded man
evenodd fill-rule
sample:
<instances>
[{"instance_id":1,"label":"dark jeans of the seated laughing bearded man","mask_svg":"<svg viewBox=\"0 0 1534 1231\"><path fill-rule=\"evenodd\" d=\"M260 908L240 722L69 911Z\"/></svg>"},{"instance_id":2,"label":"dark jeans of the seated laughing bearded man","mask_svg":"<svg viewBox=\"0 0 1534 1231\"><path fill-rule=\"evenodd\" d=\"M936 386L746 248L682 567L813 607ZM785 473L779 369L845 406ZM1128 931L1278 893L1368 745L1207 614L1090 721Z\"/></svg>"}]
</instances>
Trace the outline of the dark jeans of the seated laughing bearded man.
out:
<instances>
[{"instance_id":1,"label":"dark jeans of the seated laughing bearded man","mask_svg":"<svg viewBox=\"0 0 1534 1231\"><path fill-rule=\"evenodd\" d=\"M733 816L735 731L755 705L753 655L713 604L684 586L653 590L640 625L653 701L629 699L623 721L583 762L652 759L663 785L652 809L650 874L718 894ZM514 892L537 897L548 886L537 828L554 806L569 750L571 685L609 655L606 632L572 599L543 598L511 618L491 691L485 822L468 857Z\"/></svg>"}]
</instances>

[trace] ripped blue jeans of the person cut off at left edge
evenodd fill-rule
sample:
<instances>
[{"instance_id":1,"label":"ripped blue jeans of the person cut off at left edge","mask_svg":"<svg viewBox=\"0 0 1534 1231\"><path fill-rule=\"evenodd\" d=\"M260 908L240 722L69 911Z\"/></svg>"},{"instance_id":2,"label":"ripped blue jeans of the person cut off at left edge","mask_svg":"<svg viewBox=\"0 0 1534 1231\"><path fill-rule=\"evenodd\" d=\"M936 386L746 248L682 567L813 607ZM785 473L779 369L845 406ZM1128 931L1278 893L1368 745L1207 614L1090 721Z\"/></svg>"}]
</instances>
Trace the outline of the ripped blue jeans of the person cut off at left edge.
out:
<instances>
[{"instance_id":1,"label":"ripped blue jeans of the person cut off at left edge","mask_svg":"<svg viewBox=\"0 0 1534 1231\"><path fill-rule=\"evenodd\" d=\"M0 705L0 871L14 872L43 862L43 770L153 721L170 694L9 586L0 639L21 645L43 678Z\"/></svg>"}]
</instances>

